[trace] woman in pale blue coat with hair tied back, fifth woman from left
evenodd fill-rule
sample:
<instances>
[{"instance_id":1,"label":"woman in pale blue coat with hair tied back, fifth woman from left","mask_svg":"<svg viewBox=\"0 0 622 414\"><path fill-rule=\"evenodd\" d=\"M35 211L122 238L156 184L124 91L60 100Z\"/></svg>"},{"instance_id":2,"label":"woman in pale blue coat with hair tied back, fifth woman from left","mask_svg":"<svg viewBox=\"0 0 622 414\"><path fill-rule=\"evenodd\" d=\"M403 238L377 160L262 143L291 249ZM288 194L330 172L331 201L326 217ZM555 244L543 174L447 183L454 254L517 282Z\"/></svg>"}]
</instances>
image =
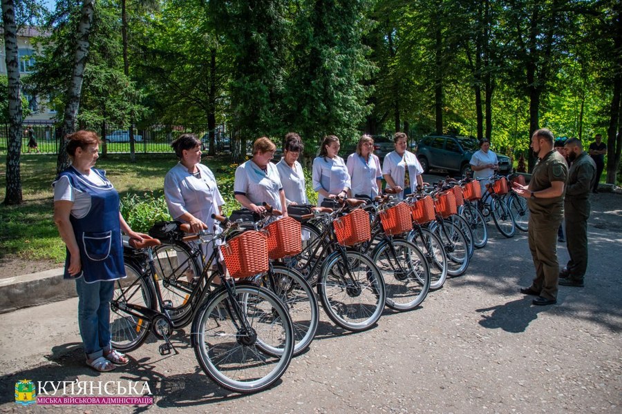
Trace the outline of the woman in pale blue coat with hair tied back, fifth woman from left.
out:
<instances>
[{"instance_id":1,"label":"woman in pale blue coat with hair tied back, fifth woman from left","mask_svg":"<svg viewBox=\"0 0 622 414\"><path fill-rule=\"evenodd\" d=\"M311 177L318 206L327 198L346 197L350 190L350 174L343 158L337 155L339 148L339 138L328 135L322 140L319 157L313 160Z\"/></svg>"}]
</instances>

